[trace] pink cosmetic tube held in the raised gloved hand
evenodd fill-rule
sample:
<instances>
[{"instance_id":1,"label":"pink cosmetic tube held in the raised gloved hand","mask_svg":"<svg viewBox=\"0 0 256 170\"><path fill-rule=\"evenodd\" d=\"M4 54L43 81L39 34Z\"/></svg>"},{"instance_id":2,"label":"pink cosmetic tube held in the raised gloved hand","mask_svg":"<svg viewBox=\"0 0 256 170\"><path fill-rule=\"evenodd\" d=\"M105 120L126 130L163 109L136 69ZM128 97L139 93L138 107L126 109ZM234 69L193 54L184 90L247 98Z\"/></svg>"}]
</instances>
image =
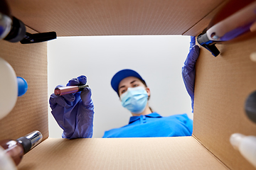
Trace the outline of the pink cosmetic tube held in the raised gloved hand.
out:
<instances>
[{"instance_id":1,"label":"pink cosmetic tube held in the raised gloved hand","mask_svg":"<svg viewBox=\"0 0 256 170\"><path fill-rule=\"evenodd\" d=\"M85 89L85 87L89 87L88 85L82 85L82 86L65 86L65 87L59 87L54 90L54 94L56 96L63 96L65 94L73 94L78 91L82 91Z\"/></svg>"}]
</instances>

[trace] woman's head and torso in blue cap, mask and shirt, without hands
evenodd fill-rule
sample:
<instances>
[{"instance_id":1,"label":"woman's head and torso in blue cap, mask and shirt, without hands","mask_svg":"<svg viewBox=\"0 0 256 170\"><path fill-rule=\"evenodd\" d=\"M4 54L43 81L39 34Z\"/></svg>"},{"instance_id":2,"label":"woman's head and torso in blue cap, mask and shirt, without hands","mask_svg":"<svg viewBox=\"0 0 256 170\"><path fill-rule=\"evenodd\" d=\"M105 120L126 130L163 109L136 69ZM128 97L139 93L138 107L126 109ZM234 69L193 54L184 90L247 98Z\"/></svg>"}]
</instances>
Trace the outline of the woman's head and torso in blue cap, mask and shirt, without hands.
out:
<instances>
[{"instance_id":1,"label":"woman's head and torso in blue cap, mask and shirt, without hands","mask_svg":"<svg viewBox=\"0 0 256 170\"><path fill-rule=\"evenodd\" d=\"M149 107L150 89L142 77L132 69L123 69L111 80L112 88L122 106L132 117L122 128L105 132L103 137L174 137L192 135L193 121L188 115L162 117Z\"/></svg>"}]
</instances>

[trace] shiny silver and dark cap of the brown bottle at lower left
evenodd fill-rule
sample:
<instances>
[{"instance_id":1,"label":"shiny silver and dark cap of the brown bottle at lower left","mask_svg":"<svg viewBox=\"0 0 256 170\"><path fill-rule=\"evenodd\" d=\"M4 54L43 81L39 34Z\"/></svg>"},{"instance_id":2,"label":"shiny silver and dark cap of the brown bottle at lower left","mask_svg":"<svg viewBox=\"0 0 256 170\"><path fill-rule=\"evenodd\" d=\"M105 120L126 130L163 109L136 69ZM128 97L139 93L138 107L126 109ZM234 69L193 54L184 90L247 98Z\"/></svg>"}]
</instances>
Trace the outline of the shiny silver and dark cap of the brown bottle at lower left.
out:
<instances>
[{"instance_id":1,"label":"shiny silver and dark cap of the brown bottle at lower left","mask_svg":"<svg viewBox=\"0 0 256 170\"><path fill-rule=\"evenodd\" d=\"M17 141L21 143L24 149L24 154L26 154L28 151L30 151L30 149L36 147L36 145L38 145L42 139L43 135L41 134L41 132L36 130L24 137L18 138Z\"/></svg>"}]
</instances>

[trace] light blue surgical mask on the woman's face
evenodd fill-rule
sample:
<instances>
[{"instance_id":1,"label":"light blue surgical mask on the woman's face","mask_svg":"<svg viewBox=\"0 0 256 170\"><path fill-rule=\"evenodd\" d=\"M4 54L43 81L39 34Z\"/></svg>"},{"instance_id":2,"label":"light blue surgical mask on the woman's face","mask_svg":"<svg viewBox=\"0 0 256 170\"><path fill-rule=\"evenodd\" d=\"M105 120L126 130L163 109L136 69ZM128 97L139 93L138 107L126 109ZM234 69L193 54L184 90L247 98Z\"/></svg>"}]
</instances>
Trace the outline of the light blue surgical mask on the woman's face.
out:
<instances>
[{"instance_id":1,"label":"light blue surgical mask on the woman's face","mask_svg":"<svg viewBox=\"0 0 256 170\"><path fill-rule=\"evenodd\" d=\"M128 88L127 91L120 96L122 106L132 113L142 113L146 108L148 97L143 86Z\"/></svg>"}]
</instances>

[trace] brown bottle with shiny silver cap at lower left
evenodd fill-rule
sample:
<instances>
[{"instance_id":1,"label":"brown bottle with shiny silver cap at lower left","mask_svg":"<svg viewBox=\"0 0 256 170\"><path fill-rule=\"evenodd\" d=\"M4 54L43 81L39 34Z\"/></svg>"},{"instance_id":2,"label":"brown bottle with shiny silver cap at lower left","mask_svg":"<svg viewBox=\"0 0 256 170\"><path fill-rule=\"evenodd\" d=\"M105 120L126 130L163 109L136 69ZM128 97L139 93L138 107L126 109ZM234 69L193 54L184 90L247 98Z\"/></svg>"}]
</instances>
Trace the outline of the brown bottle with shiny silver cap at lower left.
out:
<instances>
[{"instance_id":1,"label":"brown bottle with shiny silver cap at lower left","mask_svg":"<svg viewBox=\"0 0 256 170\"><path fill-rule=\"evenodd\" d=\"M0 146L4 148L4 152L18 165L23 155L38 145L42 138L41 132L36 130L17 140L2 140Z\"/></svg>"}]
</instances>

